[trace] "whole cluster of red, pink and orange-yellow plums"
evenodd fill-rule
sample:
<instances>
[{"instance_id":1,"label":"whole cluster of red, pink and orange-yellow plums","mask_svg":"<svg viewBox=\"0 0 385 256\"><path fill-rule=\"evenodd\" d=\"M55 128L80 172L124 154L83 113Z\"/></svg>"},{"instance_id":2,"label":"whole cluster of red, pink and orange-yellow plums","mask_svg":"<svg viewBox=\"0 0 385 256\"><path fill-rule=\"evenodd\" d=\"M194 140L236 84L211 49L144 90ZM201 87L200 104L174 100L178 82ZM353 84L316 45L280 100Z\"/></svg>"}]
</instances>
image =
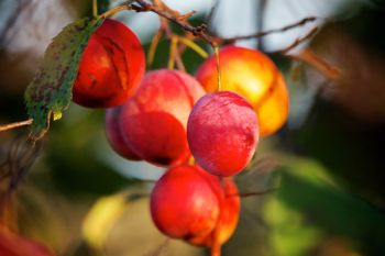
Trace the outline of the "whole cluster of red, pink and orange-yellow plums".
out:
<instances>
[{"instance_id":1,"label":"whole cluster of red, pink and orange-yellow plums","mask_svg":"<svg viewBox=\"0 0 385 256\"><path fill-rule=\"evenodd\" d=\"M144 74L144 52L124 24L106 20L91 36L74 84L74 101L107 108L111 147L130 160L166 167L151 194L151 214L164 234L220 247L240 214L233 176L253 157L261 136L288 114L288 93L274 63L238 46L220 53L196 77L157 69Z\"/></svg>"}]
</instances>

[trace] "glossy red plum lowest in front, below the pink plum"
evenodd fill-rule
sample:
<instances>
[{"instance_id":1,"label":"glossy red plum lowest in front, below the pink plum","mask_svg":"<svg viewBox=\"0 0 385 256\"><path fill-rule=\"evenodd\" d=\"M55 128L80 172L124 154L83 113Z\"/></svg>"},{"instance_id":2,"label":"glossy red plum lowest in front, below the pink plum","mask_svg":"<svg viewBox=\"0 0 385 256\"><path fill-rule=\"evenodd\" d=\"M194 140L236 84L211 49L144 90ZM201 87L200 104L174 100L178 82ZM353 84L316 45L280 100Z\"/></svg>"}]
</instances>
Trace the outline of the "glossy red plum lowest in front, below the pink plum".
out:
<instances>
[{"instance_id":1,"label":"glossy red plum lowest in front, below the pink plum","mask_svg":"<svg viewBox=\"0 0 385 256\"><path fill-rule=\"evenodd\" d=\"M151 194L151 214L160 231L174 238L207 236L215 229L220 202L209 179L219 180L193 166L177 166L156 182Z\"/></svg>"}]
</instances>

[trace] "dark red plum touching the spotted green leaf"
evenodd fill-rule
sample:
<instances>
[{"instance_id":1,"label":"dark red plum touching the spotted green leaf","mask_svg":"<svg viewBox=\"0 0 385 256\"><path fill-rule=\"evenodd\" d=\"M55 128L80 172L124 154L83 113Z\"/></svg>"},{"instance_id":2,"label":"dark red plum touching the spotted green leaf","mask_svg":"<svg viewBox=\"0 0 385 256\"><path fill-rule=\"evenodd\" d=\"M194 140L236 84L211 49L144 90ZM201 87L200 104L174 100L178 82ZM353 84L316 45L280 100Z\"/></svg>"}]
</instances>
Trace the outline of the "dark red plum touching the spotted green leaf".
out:
<instances>
[{"instance_id":1,"label":"dark red plum touching the spotted green leaf","mask_svg":"<svg viewBox=\"0 0 385 256\"><path fill-rule=\"evenodd\" d=\"M122 104L145 69L138 36L123 23L106 19L90 36L73 86L73 101L87 108Z\"/></svg>"}]
</instances>

